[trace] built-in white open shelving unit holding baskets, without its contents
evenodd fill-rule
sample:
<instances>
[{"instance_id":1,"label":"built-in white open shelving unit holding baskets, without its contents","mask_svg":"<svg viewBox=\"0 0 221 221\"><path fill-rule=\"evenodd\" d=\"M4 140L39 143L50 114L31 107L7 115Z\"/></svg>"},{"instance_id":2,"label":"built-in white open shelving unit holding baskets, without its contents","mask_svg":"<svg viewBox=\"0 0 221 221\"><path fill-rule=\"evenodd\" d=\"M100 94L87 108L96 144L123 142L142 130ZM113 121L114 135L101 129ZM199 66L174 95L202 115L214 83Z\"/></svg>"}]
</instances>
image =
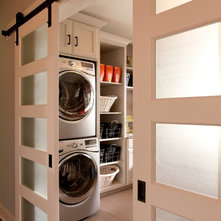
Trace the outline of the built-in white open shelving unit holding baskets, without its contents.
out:
<instances>
[{"instance_id":1,"label":"built-in white open shelving unit holding baskets, without its contents","mask_svg":"<svg viewBox=\"0 0 221 221\"><path fill-rule=\"evenodd\" d=\"M127 68L127 45L131 42L128 39L120 39L118 37L107 33L102 35L100 41L100 63L105 65L112 65L120 67L122 70L120 83L114 82L100 82L100 95L117 96L117 100L114 102L109 112L100 112L101 123L111 123L117 121L121 123L121 135L117 138L106 138L100 139L100 144L116 144L121 147L120 159L114 162L101 163L100 166L106 165L117 165L120 172L115 177L113 183L110 186L101 188L101 194L107 194L108 192L117 191L121 188L127 187L127 146L126 146L126 115L127 115L127 94L133 91L132 87L126 85L126 73L129 70L130 73L133 71L132 68ZM130 93L132 94L132 93ZM132 105L130 103L130 105ZM131 113L131 111L129 111Z\"/></svg>"}]
</instances>

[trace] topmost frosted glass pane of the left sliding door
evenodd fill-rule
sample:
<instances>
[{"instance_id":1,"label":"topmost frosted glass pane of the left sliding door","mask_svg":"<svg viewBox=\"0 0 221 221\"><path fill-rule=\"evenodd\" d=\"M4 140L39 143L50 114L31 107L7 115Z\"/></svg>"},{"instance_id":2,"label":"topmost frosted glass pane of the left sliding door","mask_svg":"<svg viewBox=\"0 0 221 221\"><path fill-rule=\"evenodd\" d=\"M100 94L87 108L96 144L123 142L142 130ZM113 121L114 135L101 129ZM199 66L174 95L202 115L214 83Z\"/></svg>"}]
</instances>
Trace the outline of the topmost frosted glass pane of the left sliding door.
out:
<instances>
[{"instance_id":1,"label":"topmost frosted glass pane of the left sliding door","mask_svg":"<svg viewBox=\"0 0 221 221\"><path fill-rule=\"evenodd\" d=\"M21 40L21 64L27 64L48 54L47 24L26 35Z\"/></svg>"}]
</instances>

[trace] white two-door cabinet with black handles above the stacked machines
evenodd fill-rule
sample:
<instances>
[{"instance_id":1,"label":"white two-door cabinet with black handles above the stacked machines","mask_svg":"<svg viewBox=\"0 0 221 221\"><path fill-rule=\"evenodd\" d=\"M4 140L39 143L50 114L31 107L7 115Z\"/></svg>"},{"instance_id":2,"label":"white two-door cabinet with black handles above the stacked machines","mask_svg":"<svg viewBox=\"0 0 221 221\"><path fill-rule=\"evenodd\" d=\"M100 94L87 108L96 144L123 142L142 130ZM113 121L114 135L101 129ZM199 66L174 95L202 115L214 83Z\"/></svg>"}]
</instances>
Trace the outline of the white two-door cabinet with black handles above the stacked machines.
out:
<instances>
[{"instance_id":1,"label":"white two-door cabinet with black handles above the stacked machines","mask_svg":"<svg viewBox=\"0 0 221 221\"><path fill-rule=\"evenodd\" d=\"M67 19L60 23L60 53L95 59L98 28Z\"/></svg>"}]
</instances>

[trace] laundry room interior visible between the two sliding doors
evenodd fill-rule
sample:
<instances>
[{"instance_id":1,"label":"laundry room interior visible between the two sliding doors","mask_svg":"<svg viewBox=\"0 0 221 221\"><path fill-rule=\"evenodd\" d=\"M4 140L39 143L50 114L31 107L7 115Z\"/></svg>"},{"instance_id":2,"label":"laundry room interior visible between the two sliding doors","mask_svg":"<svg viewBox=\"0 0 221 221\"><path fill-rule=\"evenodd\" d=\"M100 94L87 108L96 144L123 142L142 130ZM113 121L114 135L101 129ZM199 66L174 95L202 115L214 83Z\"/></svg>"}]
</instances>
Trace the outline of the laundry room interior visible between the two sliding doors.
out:
<instances>
[{"instance_id":1,"label":"laundry room interior visible between the two sliding doors","mask_svg":"<svg viewBox=\"0 0 221 221\"><path fill-rule=\"evenodd\" d=\"M59 54L60 220L132 220L132 1L61 21Z\"/></svg>"}]
</instances>

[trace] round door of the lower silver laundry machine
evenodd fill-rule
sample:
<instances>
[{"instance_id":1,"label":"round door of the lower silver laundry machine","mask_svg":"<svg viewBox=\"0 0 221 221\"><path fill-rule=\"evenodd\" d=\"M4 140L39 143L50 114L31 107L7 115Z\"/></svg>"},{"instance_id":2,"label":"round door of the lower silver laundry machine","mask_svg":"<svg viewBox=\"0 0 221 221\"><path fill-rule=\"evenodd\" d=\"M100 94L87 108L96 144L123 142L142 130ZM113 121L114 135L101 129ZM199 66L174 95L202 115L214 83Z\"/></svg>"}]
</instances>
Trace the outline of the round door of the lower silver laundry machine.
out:
<instances>
[{"instance_id":1,"label":"round door of the lower silver laundry machine","mask_svg":"<svg viewBox=\"0 0 221 221\"><path fill-rule=\"evenodd\" d=\"M87 199L97 183L97 164L85 153L72 153L59 165L60 202L73 205Z\"/></svg>"}]
</instances>

